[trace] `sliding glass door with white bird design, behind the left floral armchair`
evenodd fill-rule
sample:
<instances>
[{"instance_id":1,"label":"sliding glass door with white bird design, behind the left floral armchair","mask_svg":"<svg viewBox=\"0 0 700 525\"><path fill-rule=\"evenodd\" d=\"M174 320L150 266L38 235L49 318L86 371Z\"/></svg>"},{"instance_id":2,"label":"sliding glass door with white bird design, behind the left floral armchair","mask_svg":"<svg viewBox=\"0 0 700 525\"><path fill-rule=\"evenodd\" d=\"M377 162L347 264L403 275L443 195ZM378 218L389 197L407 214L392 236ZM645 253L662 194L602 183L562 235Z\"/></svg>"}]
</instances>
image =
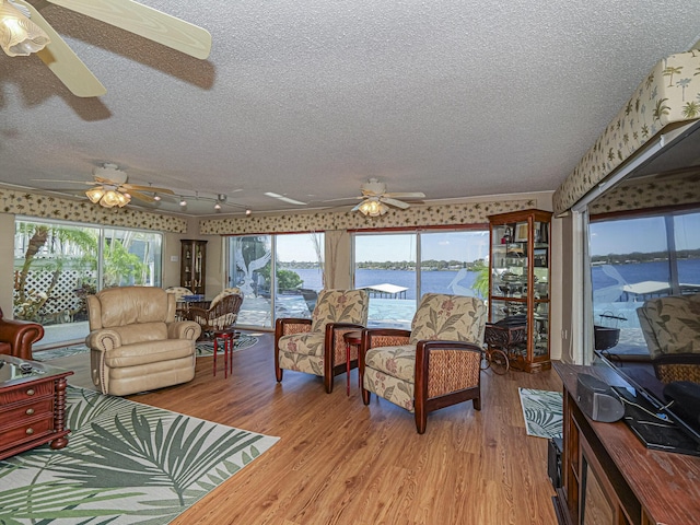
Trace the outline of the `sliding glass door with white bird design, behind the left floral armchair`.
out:
<instances>
[{"instance_id":1,"label":"sliding glass door with white bird design, behind the left floral armchair","mask_svg":"<svg viewBox=\"0 0 700 525\"><path fill-rule=\"evenodd\" d=\"M237 324L270 328L278 317L311 317L323 289L323 247L319 233L230 237L229 282L245 298Z\"/></svg>"}]
</instances>

